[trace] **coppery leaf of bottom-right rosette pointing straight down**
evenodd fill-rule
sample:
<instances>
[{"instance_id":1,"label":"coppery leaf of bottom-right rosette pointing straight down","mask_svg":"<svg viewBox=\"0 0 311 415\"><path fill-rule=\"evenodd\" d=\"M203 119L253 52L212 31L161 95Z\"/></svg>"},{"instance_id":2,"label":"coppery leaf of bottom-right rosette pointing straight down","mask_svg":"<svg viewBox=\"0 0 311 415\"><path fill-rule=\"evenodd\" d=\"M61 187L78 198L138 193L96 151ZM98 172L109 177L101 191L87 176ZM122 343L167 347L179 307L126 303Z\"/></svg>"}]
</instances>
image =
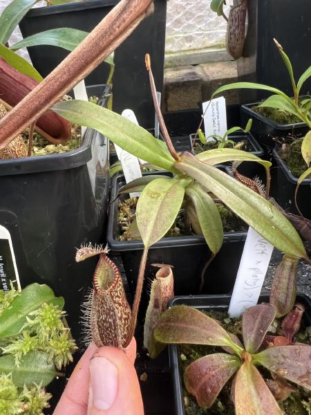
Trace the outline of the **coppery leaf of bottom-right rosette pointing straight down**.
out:
<instances>
[{"instance_id":1,"label":"coppery leaf of bottom-right rosette pointing straight down","mask_svg":"<svg viewBox=\"0 0 311 415\"><path fill-rule=\"evenodd\" d=\"M256 367L244 362L234 382L236 415L282 415L265 380Z\"/></svg>"}]
</instances>

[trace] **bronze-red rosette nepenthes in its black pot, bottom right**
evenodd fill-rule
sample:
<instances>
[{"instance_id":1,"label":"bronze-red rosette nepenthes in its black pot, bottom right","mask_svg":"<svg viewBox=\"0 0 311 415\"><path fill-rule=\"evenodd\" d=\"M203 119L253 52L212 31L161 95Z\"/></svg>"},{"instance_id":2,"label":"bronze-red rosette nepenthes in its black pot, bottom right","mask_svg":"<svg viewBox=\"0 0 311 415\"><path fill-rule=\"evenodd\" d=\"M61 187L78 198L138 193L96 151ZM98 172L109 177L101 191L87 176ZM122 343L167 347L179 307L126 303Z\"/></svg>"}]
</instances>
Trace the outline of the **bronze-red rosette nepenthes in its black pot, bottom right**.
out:
<instances>
[{"instance_id":1,"label":"bronze-red rosette nepenthes in its black pot, bottom right","mask_svg":"<svg viewBox=\"0 0 311 415\"><path fill-rule=\"evenodd\" d=\"M271 304L230 317L229 300L175 297L156 324L156 342L169 343L176 414L308 414L310 299L297 295L282 319Z\"/></svg>"}]
</instances>

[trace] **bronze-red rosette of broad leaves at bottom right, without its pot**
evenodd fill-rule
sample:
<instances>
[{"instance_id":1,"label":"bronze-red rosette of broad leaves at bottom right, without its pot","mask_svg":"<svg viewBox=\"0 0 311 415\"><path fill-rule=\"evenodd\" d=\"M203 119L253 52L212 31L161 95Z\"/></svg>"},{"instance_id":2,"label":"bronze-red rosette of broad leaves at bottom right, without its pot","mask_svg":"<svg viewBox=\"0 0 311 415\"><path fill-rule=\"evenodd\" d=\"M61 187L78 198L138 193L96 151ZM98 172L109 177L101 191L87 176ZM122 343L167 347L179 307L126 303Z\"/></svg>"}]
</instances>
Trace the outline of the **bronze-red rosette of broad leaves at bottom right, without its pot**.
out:
<instances>
[{"instance_id":1,"label":"bronze-red rosette of broad leaves at bottom right, without its pot","mask_svg":"<svg viewBox=\"0 0 311 415\"><path fill-rule=\"evenodd\" d=\"M204 356L185 369L185 387L200 407L211 407L227 381L236 374L232 382L236 415L281 415L283 412L257 367L271 371L278 386L292 391L285 382L290 380L310 390L311 347L290 343L258 351L275 315L276 309L269 304L248 308L242 320L244 345L218 322L189 306L174 306L165 311L154 334L162 343L205 344L227 351Z\"/></svg>"}]
</instances>

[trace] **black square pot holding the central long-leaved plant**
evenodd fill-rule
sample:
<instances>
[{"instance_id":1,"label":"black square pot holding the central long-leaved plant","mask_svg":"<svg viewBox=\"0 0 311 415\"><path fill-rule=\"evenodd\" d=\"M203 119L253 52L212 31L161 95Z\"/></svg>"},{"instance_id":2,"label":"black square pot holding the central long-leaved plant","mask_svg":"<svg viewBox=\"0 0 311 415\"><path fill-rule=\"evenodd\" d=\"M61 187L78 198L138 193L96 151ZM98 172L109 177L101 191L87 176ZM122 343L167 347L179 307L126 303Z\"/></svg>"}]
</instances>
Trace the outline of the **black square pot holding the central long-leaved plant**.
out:
<instances>
[{"instance_id":1,"label":"black square pot holding the central long-leaved plant","mask_svg":"<svg viewBox=\"0 0 311 415\"><path fill-rule=\"evenodd\" d=\"M226 167L222 167L226 170ZM162 173L168 174L168 173ZM124 177L113 178L111 185L111 202L107 229L107 242L113 254L120 254L131 292L135 292L138 268L142 257L142 241L118 241L120 234L117 224L117 192L124 185ZM126 199L125 196L123 196ZM204 273L205 285L203 293L230 293L240 263L246 238L246 232L225 234L223 247ZM174 291L177 295L196 294L200 286L200 275L209 260L211 252L200 235L185 237L162 238L149 249L145 282L150 282L158 268L154 263L171 264L174 266ZM230 264L230 266L227 266ZM147 284L147 283L146 283ZM147 288L144 290L142 302L147 302ZM144 304L145 305L145 304ZM142 307L144 308L144 307Z\"/></svg>"}]
</instances>

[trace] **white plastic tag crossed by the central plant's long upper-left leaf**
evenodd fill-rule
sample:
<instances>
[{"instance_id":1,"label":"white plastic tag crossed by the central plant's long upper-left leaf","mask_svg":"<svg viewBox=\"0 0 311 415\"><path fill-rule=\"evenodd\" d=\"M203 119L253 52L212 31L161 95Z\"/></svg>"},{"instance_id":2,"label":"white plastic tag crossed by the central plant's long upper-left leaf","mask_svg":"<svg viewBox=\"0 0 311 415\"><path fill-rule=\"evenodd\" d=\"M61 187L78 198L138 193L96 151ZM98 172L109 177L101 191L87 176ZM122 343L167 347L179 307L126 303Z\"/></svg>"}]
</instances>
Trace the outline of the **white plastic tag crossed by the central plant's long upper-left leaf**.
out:
<instances>
[{"instance_id":1,"label":"white plastic tag crossed by the central plant's long upper-left leaf","mask_svg":"<svg viewBox=\"0 0 311 415\"><path fill-rule=\"evenodd\" d=\"M135 114L131 109L124 109L122 116L138 124ZM135 118L135 121L133 117ZM117 153L117 158L121 161L126 183L130 183L135 178L142 177L140 163L137 157L133 156L133 154L130 154L128 151L123 150L118 145L115 145L115 151ZM129 195L130 197L138 197L140 196L140 192L132 192Z\"/></svg>"}]
</instances>

